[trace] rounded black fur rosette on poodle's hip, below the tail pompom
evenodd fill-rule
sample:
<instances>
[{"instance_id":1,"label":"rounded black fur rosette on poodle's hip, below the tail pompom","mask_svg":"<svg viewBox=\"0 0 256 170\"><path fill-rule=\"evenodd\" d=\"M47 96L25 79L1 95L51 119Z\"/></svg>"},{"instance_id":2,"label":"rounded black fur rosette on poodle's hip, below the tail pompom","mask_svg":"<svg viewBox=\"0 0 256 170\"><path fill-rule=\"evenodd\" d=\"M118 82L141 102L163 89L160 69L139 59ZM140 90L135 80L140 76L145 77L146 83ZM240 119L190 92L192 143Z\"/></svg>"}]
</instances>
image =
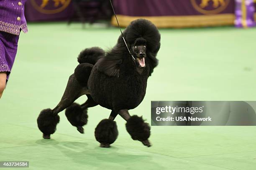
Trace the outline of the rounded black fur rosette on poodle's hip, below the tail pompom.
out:
<instances>
[{"instance_id":1,"label":"rounded black fur rosette on poodle's hip, below the tail pompom","mask_svg":"<svg viewBox=\"0 0 256 170\"><path fill-rule=\"evenodd\" d=\"M89 63L82 63L77 65L74 70L74 75L81 85L87 86L87 81L91 74L93 65Z\"/></svg>"}]
</instances>

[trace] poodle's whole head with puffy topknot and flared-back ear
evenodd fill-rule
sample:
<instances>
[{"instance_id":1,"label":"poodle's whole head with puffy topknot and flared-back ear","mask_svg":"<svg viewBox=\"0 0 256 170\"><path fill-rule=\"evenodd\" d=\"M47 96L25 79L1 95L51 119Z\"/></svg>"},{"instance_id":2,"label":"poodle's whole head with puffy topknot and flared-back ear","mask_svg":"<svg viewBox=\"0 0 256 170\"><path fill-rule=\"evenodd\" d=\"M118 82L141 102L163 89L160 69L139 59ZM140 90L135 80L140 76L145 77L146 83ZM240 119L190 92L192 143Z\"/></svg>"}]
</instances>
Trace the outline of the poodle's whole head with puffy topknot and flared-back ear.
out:
<instances>
[{"instance_id":1,"label":"poodle's whole head with puffy topknot and flared-back ear","mask_svg":"<svg viewBox=\"0 0 256 170\"><path fill-rule=\"evenodd\" d=\"M129 54L123 36L135 60ZM107 52L105 57L100 58L95 65L100 72L108 76L119 77L121 69L129 72L136 68L139 74L145 73L149 77L158 65L156 55L160 49L160 39L159 31L149 20L134 20L124 30L123 35L120 35L115 47ZM121 67L121 65L126 67Z\"/></svg>"}]
</instances>

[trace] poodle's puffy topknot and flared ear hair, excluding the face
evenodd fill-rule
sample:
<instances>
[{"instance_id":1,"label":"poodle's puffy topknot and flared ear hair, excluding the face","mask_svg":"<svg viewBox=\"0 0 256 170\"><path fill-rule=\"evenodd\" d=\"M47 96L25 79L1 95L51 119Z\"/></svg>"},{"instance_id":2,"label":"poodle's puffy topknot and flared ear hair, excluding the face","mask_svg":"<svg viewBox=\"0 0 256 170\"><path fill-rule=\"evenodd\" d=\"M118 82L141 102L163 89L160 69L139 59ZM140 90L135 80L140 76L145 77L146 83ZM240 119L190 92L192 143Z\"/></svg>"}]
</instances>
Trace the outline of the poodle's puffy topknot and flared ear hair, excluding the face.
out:
<instances>
[{"instance_id":1,"label":"poodle's puffy topknot and flared ear hair, excluding the face","mask_svg":"<svg viewBox=\"0 0 256 170\"><path fill-rule=\"evenodd\" d=\"M123 32L123 35L125 36L126 43L130 50L136 39L143 38L146 40L146 63L148 64L149 69L147 75L150 76L154 71L154 68L158 65L156 55L161 45L161 36L158 29L149 20L138 19L131 22L131 24ZM97 69L101 72L105 72L106 75L118 77L120 65L122 64L123 60L127 58L131 59L131 55L128 53L127 47L123 42L123 36L120 35L118 38L118 43L115 45L115 47L107 52L105 57L99 60L97 63ZM125 65L127 66L127 64Z\"/></svg>"}]
</instances>

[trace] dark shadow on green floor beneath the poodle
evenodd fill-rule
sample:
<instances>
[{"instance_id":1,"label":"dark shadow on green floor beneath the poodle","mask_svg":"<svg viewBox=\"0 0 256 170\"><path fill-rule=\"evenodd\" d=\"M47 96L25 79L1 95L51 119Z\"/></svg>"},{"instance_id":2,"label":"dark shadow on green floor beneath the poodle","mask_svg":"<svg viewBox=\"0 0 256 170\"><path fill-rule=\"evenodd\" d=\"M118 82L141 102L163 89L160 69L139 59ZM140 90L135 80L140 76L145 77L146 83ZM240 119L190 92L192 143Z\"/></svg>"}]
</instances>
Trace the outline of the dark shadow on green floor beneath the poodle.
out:
<instances>
[{"instance_id":1,"label":"dark shadow on green floor beneath the poodle","mask_svg":"<svg viewBox=\"0 0 256 170\"><path fill-rule=\"evenodd\" d=\"M115 165L116 168L131 170L143 167L164 169L164 167L152 161L151 153L144 153L141 150L113 146L110 148L90 148L92 145L88 146L84 142L62 142L53 146L75 163L81 165L100 168L111 164L112 166Z\"/></svg>"}]
</instances>

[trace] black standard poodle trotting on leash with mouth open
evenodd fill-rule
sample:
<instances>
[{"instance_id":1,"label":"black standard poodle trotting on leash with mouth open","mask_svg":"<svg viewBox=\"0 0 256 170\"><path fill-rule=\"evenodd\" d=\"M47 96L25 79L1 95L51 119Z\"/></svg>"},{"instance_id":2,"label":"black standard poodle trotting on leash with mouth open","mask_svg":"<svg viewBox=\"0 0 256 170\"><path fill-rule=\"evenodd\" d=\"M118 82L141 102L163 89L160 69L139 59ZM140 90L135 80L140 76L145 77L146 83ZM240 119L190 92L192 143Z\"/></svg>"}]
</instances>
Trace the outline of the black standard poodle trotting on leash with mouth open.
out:
<instances>
[{"instance_id":1,"label":"black standard poodle trotting on leash with mouth open","mask_svg":"<svg viewBox=\"0 0 256 170\"><path fill-rule=\"evenodd\" d=\"M111 111L95 128L95 138L100 147L108 148L118 136L117 115L126 120L126 130L133 140L139 140L150 147L148 138L150 126L142 117L129 115L128 110L136 108L143 100L148 77L158 64L160 33L148 20L138 19L120 35L118 42L109 52L99 47L83 50L78 57L79 65L69 77L66 90L59 104L53 109L42 110L37 118L43 138L49 139L59 122L58 113L66 109L69 122L84 133L87 124L87 108L101 105ZM129 50L131 54L129 53ZM87 95L84 104L74 101Z\"/></svg>"}]
</instances>

